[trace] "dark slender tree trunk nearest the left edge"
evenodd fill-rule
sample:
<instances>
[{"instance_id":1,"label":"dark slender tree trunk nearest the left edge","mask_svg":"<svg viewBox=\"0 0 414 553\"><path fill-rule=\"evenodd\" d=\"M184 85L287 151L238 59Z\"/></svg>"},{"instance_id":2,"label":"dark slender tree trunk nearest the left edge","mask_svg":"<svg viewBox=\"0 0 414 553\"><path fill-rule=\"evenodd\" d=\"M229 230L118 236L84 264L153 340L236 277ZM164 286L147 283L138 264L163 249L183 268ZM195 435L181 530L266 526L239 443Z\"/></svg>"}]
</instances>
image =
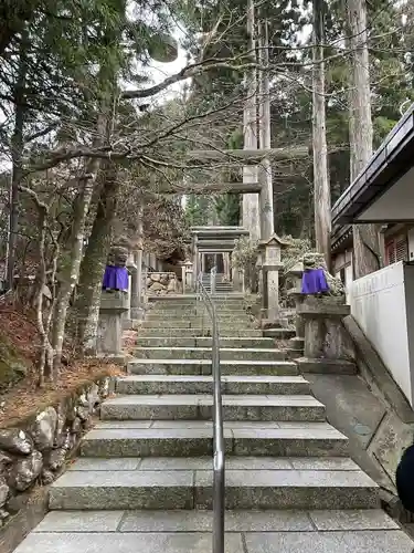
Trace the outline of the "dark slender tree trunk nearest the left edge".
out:
<instances>
[{"instance_id":1,"label":"dark slender tree trunk nearest the left edge","mask_svg":"<svg viewBox=\"0 0 414 553\"><path fill-rule=\"evenodd\" d=\"M12 177L10 185L10 218L6 282L8 290L14 288L15 251L19 233L19 185L22 178L22 157L24 147L23 129L26 112L24 105L26 48L26 33L24 31L20 42L19 72L14 85L14 129L11 137Z\"/></svg>"}]
</instances>

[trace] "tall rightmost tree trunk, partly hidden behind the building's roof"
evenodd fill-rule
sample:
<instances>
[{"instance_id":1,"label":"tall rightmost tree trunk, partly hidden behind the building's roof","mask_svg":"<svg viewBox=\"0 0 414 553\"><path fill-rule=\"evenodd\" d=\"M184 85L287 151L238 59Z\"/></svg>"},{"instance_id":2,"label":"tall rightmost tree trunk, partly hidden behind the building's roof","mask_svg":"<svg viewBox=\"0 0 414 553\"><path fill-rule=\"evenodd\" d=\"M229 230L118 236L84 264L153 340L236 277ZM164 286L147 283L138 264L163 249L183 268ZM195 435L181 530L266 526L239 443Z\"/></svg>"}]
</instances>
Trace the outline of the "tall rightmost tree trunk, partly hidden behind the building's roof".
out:
<instances>
[{"instance_id":1,"label":"tall rightmost tree trunk, partly hidden behind the building's roof","mask_svg":"<svg viewBox=\"0 0 414 553\"><path fill-rule=\"evenodd\" d=\"M367 44L365 0L347 0L350 32L350 166L351 182L372 156L372 118L370 94L370 60ZM379 228L376 225L353 226L354 276L360 279L382 265Z\"/></svg>"}]
</instances>

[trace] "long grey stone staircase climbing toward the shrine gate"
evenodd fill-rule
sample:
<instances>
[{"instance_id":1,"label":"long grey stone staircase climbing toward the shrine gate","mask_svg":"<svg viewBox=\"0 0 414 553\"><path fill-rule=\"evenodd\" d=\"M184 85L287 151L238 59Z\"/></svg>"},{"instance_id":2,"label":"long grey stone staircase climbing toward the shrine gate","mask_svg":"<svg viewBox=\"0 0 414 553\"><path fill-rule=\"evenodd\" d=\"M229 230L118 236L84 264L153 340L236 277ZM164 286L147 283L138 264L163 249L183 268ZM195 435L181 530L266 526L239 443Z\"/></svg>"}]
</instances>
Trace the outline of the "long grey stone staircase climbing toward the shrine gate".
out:
<instances>
[{"instance_id":1,"label":"long grey stone staircase climbing toward the shrine gate","mask_svg":"<svg viewBox=\"0 0 414 553\"><path fill-rule=\"evenodd\" d=\"M216 305L226 553L412 553L297 365L252 328L241 296ZM129 375L17 553L211 551L210 334L193 296L156 303Z\"/></svg>"}]
</instances>

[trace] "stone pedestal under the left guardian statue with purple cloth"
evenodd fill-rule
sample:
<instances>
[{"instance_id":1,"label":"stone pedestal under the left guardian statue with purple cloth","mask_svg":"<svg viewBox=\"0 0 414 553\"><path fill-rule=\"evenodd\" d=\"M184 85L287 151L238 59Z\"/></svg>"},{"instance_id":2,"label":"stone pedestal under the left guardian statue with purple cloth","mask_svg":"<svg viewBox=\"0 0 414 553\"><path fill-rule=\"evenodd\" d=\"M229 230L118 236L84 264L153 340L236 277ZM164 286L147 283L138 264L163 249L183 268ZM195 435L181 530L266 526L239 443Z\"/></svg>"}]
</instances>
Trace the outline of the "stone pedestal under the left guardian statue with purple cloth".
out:
<instances>
[{"instance_id":1,"label":"stone pedestal under the left guardian statue with purple cloth","mask_svg":"<svg viewBox=\"0 0 414 553\"><path fill-rule=\"evenodd\" d=\"M120 356L123 351L123 314L129 309L125 292L103 292L97 330L98 354Z\"/></svg>"}]
</instances>

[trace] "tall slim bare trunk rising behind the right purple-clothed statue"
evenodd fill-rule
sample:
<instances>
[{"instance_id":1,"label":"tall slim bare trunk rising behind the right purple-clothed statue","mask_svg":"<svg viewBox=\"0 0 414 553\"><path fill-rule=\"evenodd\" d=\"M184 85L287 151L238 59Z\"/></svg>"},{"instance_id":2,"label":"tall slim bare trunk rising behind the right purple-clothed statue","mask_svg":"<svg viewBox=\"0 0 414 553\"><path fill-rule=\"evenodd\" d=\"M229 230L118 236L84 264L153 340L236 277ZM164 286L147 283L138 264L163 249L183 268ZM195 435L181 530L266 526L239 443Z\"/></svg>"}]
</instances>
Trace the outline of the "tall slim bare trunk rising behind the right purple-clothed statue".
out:
<instances>
[{"instance_id":1,"label":"tall slim bare trunk rising behind the right purple-clothed statue","mask_svg":"<svg viewBox=\"0 0 414 553\"><path fill-rule=\"evenodd\" d=\"M331 205L328 177L328 150L325 109L325 0L314 0L314 90L312 90L312 146L314 146L314 204L316 249L323 253L328 269L331 267Z\"/></svg>"}]
</instances>

